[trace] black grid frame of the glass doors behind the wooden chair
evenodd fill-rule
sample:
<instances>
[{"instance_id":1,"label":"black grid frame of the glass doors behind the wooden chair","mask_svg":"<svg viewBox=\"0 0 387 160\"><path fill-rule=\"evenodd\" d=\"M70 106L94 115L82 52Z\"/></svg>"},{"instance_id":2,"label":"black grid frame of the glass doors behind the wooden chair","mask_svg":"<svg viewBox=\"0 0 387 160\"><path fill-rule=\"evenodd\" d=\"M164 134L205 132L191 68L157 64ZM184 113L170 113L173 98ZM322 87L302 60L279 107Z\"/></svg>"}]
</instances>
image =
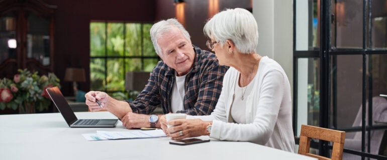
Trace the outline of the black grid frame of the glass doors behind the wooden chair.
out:
<instances>
[{"instance_id":1,"label":"black grid frame of the glass doors behind the wooden chair","mask_svg":"<svg viewBox=\"0 0 387 160\"><path fill-rule=\"evenodd\" d=\"M309 2L313 0L308 0ZM351 150L344 148L344 152L356 154L362 157L364 159L365 157L368 158L376 158L376 159L387 159L387 156L379 155L379 154L371 154L366 152L365 148L365 141L368 139L368 144L370 141L370 134L367 134L368 137L366 138L366 132L369 132L371 130L375 129L387 129L387 125L384 124L372 124L372 107L368 107L368 123L365 124L365 117L366 117L366 98L372 98L372 81L367 80L366 72L362 72L362 126L361 127L350 127L350 128L338 128L337 127L337 114L335 113L335 106L333 110L330 110L330 103L331 100L333 100L333 103L335 103L336 96L333 96L333 99L330 99L331 93L335 93L335 90L330 90L331 86L331 75L330 72L334 71L330 69L331 63L335 63L335 60L333 59L331 61L332 55L345 55L345 54L356 54L356 55L362 55L362 69L367 70L367 55L372 54L385 54L387 50L371 50L367 48L367 34L370 34L367 30L367 23L369 23L368 20L370 20L367 16L369 15L370 9L369 6L371 3L371 0L362 0L363 2L363 23L362 23L362 35L363 35L363 43L362 48L358 49L342 49L342 48L334 48L330 46L331 42L331 35L330 35L330 27L331 27L331 20L334 16L331 12L331 0L321 0L320 1L320 17L321 17L321 23L320 23L320 47L312 48L311 50L296 50L296 3L297 1L294 0L293 2L293 129L294 134L297 136L297 114L298 114L298 58L320 58L320 113L319 113L319 126L325 127L325 128L332 128L337 130L343 130L346 132L350 131L361 131L362 137L361 137L361 151L357 150ZM310 29L309 29L310 31ZM310 35L310 34L309 34ZM310 46L310 45L309 45ZM335 74L333 73L333 76ZM335 77L333 77L335 78ZM368 83L366 83L368 81ZM335 85L335 80L332 81L333 85ZM368 88L367 88L368 87ZM366 90L368 91L368 94L366 94ZM368 100L368 105L372 106L372 100ZM330 112L333 113L333 117L330 117ZM333 119L333 126L330 126L330 119ZM368 126L367 126L368 125ZM298 140L296 140L296 143L298 144ZM332 149L332 145L328 143L327 141L320 140L319 142L311 142L311 147L319 149L319 153L322 156L329 157L329 150ZM368 149L370 150L370 145L368 145Z\"/></svg>"}]
</instances>

